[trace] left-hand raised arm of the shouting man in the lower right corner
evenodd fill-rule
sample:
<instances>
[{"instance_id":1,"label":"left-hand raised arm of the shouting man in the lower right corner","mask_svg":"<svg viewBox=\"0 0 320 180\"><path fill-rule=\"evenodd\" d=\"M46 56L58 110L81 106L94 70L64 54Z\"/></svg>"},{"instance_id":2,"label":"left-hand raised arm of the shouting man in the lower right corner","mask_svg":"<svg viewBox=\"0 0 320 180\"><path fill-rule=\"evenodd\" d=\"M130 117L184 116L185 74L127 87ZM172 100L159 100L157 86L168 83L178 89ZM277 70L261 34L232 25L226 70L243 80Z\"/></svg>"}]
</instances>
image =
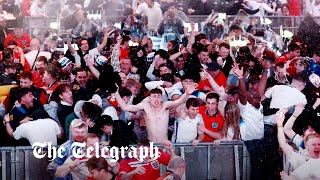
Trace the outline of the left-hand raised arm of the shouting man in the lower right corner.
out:
<instances>
[{"instance_id":1,"label":"left-hand raised arm of the shouting man in the lower right corner","mask_svg":"<svg viewBox=\"0 0 320 180\"><path fill-rule=\"evenodd\" d=\"M280 109L276 113L276 123L278 127L278 141L279 141L279 146L282 149L283 153L287 156L289 156L292 152L293 149L292 147L286 142L286 137L284 135L283 131L283 121L285 117L285 113L287 112L286 109Z\"/></svg>"}]
</instances>

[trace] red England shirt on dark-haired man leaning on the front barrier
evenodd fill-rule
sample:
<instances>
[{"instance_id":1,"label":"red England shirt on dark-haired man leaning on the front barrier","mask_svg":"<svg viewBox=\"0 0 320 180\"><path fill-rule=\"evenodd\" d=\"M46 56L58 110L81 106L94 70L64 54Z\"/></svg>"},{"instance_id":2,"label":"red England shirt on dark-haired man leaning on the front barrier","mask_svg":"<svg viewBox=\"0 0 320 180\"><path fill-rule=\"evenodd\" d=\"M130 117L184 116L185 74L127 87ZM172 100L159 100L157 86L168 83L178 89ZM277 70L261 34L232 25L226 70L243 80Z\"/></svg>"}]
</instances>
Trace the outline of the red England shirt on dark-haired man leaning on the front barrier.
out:
<instances>
[{"instance_id":1,"label":"red England shirt on dark-haired man leaning on the front barrier","mask_svg":"<svg viewBox=\"0 0 320 180\"><path fill-rule=\"evenodd\" d=\"M221 114L218 112L215 116L209 116L207 113L207 108L201 106L199 108L199 113L202 115L205 128L212 132L219 132L222 130L224 120ZM202 142L213 142L215 139L207 134L204 134L204 139Z\"/></svg>"}]
</instances>

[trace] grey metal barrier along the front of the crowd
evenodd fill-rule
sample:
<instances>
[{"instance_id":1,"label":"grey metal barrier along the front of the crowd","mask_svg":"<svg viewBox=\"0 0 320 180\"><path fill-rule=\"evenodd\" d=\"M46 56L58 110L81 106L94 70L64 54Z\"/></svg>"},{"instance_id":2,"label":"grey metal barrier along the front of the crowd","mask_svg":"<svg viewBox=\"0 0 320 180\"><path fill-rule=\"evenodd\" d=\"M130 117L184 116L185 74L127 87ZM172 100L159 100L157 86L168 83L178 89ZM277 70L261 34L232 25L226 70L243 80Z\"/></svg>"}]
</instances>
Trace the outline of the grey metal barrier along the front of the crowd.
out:
<instances>
[{"instance_id":1,"label":"grey metal barrier along the front of the crowd","mask_svg":"<svg viewBox=\"0 0 320 180\"><path fill-rule=\"evenodd\" d=\"M200 143L175 144L175 152L186 161L184 179L246 180L250 174L250 160L243 142L225 142L221 145ZM49 159L36 159L31 147L0 148L2 180L50 180L47 171ZM165 167L161 167L165 172Z\"/></svg>"}]
</instances>

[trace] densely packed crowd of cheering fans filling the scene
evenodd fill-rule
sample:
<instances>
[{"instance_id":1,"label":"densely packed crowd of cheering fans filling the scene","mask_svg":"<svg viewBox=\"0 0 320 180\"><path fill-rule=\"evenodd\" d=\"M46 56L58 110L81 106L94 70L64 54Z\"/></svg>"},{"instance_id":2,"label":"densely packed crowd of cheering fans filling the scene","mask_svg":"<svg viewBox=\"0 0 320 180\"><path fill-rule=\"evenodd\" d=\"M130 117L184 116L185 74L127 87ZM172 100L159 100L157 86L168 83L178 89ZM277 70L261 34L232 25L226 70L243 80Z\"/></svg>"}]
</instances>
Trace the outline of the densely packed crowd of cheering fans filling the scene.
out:
<instances>
[{"instance_id":1,"label":"densely packed crowd of cheering fans filling the scene","mask_svg":"<svg viewBox=\"0 0 320 180\"><path fill-rule=\"evenodd\" d=\"M30 10L21 6L21 11L47 16L53 11L42 7L53 8L51 4L58 2L36 0ZM76 17L70 22L75 26L66 32L66 53L54 46L44 51L20 23L10 32L0 17L4 34L0 94L8 92L0 106L1 146L35 142L63 146L67 149L64 156L48 166L49 172L62 179L181 179L185 162L175 154L172 143L197 146L241 140L250 154L251 179L320 178L316 169L320 156L319 47L310 48L294 36L281 56L251 41L235 48L228 44L230 38L247 34L241 24L232 24L224 38L209 41L193 22L188 33L181 23L188 17L176 4L135 1L133 13L148 17L148 35L167 34L163 27L170 19L176 24L176 34L182 36L169 33L168 50L155 50L147 34L132 38L130 31L126 35L111 26L100 27L84 16L86 8L120 6L121 1L75 2L63 6L65 12L63 8L57 12ZM244 3L250 9L263 2ZM276 4L272 4L261 7L274 13ZM163 15L164 5L169 9ZM196 11L189 7L186 14ZM132 41L137 46L129 45ZM77 159L72 155L71 148L77 148L74 142L86 142L86 148L95 143L145 147L155 142L163 144L166 152L161 151L157 160L143 162L129 156L119 162ZM287 172L281 172L279 149L290 163ZM168 165L163 177L159 163Z\"/></svg>"}]
</instances>

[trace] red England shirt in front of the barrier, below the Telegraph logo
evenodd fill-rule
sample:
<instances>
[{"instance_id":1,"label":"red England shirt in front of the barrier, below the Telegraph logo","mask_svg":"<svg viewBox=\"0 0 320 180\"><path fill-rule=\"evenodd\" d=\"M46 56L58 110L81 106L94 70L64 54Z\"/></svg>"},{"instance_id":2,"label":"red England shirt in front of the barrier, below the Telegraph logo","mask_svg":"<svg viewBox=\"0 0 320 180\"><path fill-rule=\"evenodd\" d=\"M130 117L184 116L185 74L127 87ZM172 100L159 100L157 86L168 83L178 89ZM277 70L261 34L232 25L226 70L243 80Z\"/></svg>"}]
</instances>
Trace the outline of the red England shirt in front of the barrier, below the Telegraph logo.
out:
<instances>
[{"instance_id":1,"label":"red England shirt in front of the barrier, below the Telegraph logo","mask_svg":"<svg viewBox=\"0 0 320 180\"><path fill-rule=\"evenodd\" d=\"M151 161L149 163L145 163L142 166L146 169L146 173L144 174L134 174L131 177L131 180L149 180L149 179L157 179L160 177L160 164L168 165L170 161L170 155L161 151L159 149L160 157L157 160ZM133 165L130 165L132 163L139 163L140 161L136 158L129 158L126 156L124 159L120 161L120 170L119 174L121 172L129 173L136 169Z\"/></svg>"}]
</instances>

